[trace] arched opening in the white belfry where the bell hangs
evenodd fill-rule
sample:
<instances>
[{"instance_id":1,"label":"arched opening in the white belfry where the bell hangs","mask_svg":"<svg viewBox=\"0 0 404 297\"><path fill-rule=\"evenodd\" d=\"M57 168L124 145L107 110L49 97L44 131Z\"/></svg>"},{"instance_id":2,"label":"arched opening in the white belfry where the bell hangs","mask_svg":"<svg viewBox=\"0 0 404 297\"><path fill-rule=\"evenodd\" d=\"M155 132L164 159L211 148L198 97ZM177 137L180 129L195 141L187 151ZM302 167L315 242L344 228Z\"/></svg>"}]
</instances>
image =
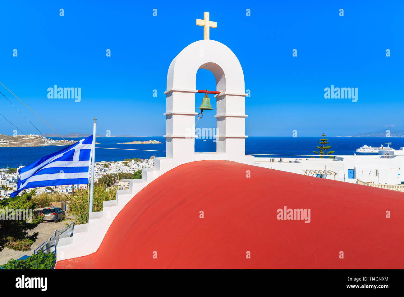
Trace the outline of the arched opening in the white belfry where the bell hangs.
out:
<instances>
[{"instance_id":1,"label":"arched opening in the white belfry where the bell hangs","mask_svg":"<svg viewBox=\"0 0 404 297\"><path fill-rule=\"evenodd\" d=\"M210 70L200 68L196 72L196 89L216 91L215 76ZM202 118L198 120L198 115L195 116L195 152L216 152L216 98L215 94L208 94L210 105L213 110L204 110ZM200 113L199 107L201 106L202 99L205 97L204 93L195 94L195 112Z\"/></svg>"}]
</instances>

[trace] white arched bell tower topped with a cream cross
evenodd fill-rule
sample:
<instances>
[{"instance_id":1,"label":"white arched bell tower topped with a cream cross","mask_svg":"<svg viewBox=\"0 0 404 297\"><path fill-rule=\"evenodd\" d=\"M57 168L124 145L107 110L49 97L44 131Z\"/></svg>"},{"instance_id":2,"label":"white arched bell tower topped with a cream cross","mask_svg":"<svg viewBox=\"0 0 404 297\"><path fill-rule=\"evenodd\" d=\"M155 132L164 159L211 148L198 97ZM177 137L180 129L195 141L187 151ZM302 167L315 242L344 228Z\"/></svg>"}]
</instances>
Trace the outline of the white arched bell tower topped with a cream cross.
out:
<instances>
[{"instance_id":1,"label":"white arched bell tower topped with a cream cross","mask_svg":"<svg viewBox=\"0 0 404 297\"><path fill-rule=\"evenodd\" d=\"M254 157L245 155L245 90L244 74L236 55L224 44L209 40L209 27L217 23L197 20L204 25L204 40L196 41L175 57L167 75L166 94L166 158L174 164L197 160L231 160L253 164ZM207 69L216 80L217 135L216 152L195 152L196 72ZM209 112L204 113L208 116ZM171 163L171 162L170 162ZM172 164L172 165L174 165ZM164 166L165 167L165 166Z\"/></svg>"}]
</instances>

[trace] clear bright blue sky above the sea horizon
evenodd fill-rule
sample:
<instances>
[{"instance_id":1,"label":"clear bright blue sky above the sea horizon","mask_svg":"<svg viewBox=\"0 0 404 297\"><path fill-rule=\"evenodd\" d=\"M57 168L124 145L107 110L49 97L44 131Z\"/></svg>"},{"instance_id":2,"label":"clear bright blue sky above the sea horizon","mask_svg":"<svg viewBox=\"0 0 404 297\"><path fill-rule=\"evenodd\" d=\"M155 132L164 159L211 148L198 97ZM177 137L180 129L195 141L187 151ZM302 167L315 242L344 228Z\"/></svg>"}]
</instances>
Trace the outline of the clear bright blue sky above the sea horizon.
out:
<instances>
[{"instance_id":1,"label":"clear bright blue sky above the sea horizon","mask_svg":"<svg viewBox=\"0 0 404 297\"><path fill-rule=\"evenodd\" d=\"M168 66L203 38L195 19L208 11L218 23L210 39L236 54L251 92L246 135L404 130L404 4L352 2L8 1L0 10L0 81L60 134L92 133L96 116L99 134L164 135ZM48 99L47 89L55 84L80 87L81 101ZM331 85L358 88L358 101L324 99ZM199 70L196 86L215 90L213 74ZM42 133L53 133L1 85L0 92ZM202 97L196 95L196 107ZM1 95L0 102L8 120L39 134ZM198 126L215 127L215 114ZM0 117L0 133L14 129Z\"/></svg>"}]
</instances>

